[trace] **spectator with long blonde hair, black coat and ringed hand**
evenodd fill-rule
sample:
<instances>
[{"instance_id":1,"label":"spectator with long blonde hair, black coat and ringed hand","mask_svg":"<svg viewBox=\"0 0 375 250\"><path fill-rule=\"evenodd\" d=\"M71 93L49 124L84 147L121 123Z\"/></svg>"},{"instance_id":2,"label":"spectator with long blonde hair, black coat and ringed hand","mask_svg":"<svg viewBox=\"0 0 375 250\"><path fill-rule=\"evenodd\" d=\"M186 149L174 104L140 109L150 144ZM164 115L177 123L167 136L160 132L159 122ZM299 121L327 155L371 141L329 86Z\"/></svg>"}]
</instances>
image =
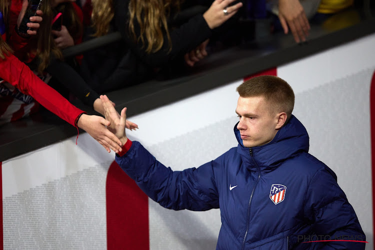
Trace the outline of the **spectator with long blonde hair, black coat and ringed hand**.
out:
<instances>
[{"instance_id":1,"label":"spectator with long blonde hair, black coat and ringed hand","mask_svg":"<svg viewBox=\"0 0 375 250\"><path fill-rule=\"evenodd\" d=\"M194 58L202 59L214 29L242 6L241 2L231 5L233 2L215 0L203 14L171 29L169 21L191 2L92 0L94 36L119 31L123 41L85 54L81 74L95 90L107 91L160 75L190 51Z\"/></svg>"}]
</instances>

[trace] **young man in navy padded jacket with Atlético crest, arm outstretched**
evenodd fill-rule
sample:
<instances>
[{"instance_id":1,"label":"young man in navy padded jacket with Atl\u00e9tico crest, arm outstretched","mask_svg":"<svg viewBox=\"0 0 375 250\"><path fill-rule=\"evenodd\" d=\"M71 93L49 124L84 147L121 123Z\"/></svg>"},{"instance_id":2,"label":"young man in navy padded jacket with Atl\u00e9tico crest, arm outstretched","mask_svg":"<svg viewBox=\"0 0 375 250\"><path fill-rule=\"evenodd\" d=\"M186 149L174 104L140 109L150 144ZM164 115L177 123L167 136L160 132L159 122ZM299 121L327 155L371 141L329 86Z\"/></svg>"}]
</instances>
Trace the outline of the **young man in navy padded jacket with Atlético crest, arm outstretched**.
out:
<instances>
[{"instance_id":1,"label":"young man in navy padded jacket with Atl\u00e9tico crest, arm outstretched","mask_svg":"<svg viewBox=\"0 0 375 250\"><path fill-rule=\"evenodd\" d=\"M126 109L118 118L101 96L109 129L124 144L116 162L166 208L220 208L217 249L364 249L358 242L364 233L336 175L307 153L307 131L291 114L289 84L265 75L237 91L238 146L183 171L172 171L128 140Z\"/></svg>"}]
</instances>

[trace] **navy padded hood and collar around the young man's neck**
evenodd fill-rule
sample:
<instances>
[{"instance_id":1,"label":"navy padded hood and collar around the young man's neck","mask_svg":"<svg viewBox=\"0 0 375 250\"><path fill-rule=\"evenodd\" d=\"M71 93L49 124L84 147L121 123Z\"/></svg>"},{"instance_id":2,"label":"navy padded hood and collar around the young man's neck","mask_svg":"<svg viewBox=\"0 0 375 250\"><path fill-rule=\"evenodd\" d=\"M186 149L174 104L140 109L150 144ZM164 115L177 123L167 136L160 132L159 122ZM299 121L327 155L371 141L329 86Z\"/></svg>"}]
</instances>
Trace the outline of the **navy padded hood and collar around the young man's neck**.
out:
<instances>
[{"instance_id":1,"label":"navy padded hood and collar around the young man's neck","mask_svg":"<svg viewBox=\"0 0 375 250\"><path fill-rule=\"evenodd\" d=\"M234 126L234 134L238 141L237 152L246 167L251 170L256 170L258 166L260 171L269 172L297 153L308 152L309 138L306 128L294 115L291 115L289 121L277 131L270 142L252 147L252 157L249 148L243 146L237 124L238 122Z\"/></svg>"}]
</instances>

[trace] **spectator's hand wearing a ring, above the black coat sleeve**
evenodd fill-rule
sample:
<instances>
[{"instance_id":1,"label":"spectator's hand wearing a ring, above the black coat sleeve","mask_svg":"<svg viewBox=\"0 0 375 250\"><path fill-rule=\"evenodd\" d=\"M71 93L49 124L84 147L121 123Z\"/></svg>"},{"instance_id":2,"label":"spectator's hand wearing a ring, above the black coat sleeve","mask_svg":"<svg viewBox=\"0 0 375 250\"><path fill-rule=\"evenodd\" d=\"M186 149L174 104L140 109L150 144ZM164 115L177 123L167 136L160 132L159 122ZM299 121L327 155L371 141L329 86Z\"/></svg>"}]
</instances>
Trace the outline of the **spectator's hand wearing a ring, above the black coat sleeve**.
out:
<instances>
[{"instance_id":1,"label":"spectator's hand wearing a ring, above the black coat sleeve","mask_svg":"<svg viewBox=\"0 0 375 250\"><path fill-rule=\"evenodd\" d=\"M232 17L242 6L242 2L238 2L229 6L236 0L214 0L211 6L203 13L203 18L207 22L209 28L216 28ZM224 11L226 10L226 12Z\"/></svg>"}]
</instances>

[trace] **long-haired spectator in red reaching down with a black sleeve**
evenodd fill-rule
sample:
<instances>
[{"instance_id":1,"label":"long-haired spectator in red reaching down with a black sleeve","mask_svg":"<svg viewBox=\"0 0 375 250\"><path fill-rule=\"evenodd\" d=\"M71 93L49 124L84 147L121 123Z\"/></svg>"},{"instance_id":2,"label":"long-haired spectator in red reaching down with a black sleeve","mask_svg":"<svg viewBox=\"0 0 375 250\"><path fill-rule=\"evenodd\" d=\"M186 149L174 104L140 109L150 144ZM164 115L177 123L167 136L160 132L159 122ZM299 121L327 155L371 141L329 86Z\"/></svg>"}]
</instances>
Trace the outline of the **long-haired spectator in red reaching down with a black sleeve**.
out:
<instances>
[{"instance_id":1,"label":"long-haired spectator in red reaching down with a black sleeve","mask_svg":"<svg viewBox=\"0 0 375 250\"><path fill-rule=\"evenodd\" d=\"M44 0L41 5L43 22L39 20L40 25L38 24L34 27L38 28L38 34L31 37L22 37L17 33L19 20L23 17L20 13L22 12L22 8L25 7L24 2L27 3L27 0L11 0L9 3L9 15L5 16L5 19L9 20L7 23L7 41L10 42L14 55L37 70L37 73L45 82L48 82L50 78L45 73L46 71L80 100L92 106L95 111L103 114L98 94L84 82L73 68L62 61L61 51L53 42L51 34L53 11L50 0ZM38 18L41 17L39 16ZM29 98L25 97L25 99ZM128 128L136 127L136 124L129 123L128 125Z\"/></svg>"}]
</instances>

